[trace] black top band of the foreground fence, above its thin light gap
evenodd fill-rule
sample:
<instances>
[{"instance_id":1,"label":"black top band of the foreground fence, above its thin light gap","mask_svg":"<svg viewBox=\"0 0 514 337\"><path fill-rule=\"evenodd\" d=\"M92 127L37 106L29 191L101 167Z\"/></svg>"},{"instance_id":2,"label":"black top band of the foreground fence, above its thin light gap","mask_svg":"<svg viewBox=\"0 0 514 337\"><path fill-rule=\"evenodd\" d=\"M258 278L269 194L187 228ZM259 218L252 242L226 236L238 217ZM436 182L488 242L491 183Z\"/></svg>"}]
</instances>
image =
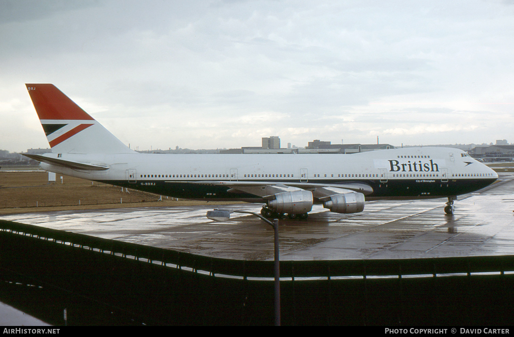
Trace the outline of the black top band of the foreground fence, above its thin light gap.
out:
<instances>
[{"instance_id":1,"label":"black top band of the foreground fence, above its thin light gap","mask_svg":"<svg viewBox=\"0 0 514 337\"><path fill-rule=\"evenodd\" d=\"M56 244L111 254L156 265L217 277L273 280L273 261L208 257L128 242L104 239L29 224L0 220L0 234L9 232ZM412 259L281 261L281 279L338 279L344 277L437 277L514 272L514 256L468 256Z\"/></svg>"}]
</instances>

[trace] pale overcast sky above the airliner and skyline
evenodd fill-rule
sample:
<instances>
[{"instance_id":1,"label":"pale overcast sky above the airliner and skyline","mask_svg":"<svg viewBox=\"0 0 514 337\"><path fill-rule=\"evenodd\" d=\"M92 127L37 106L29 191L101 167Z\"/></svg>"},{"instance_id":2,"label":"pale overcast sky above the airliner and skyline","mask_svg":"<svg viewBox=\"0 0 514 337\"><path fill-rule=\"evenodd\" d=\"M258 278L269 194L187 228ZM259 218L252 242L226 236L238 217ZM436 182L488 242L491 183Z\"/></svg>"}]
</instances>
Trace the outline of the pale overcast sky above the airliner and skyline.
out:
<instances>
[{"instance_id":1,"label":"pale overcast sky above the airliner and skyline","mask_svg":"<svg viewBox=\"0 0 514 337\"><path fill-rule=\"evenodd\" d=\"M514 1L0 0L0 149L53 83L132 148L514 142Z\"/></svg>"}]
</instances>

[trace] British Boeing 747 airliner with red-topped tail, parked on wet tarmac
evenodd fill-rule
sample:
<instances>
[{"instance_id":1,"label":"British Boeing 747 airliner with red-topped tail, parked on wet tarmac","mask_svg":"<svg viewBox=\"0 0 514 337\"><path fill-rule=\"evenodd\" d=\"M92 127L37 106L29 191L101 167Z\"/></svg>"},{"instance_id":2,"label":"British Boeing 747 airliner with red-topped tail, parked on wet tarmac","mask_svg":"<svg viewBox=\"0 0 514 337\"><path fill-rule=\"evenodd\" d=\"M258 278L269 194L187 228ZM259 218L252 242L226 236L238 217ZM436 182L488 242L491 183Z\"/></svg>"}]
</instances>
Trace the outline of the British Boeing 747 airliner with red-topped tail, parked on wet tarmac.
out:
<instances>
[{"instance_id":1,"label":"British Boeing 747 airliner with red-topped tail, parked on wet tarmac","mask_svg":"<svg viewBox=\"0 0 514 337\"><path fill-rule=\"evenodd\" d=\"M265 203L266 217L306 218L313 204L362 212L366 200L448 198L498 174L455 148L351 155L152 155L125 146L52 84L27 84L51 153L25 156L45 171L176 198Z\"/></svg>"}]
</instances>

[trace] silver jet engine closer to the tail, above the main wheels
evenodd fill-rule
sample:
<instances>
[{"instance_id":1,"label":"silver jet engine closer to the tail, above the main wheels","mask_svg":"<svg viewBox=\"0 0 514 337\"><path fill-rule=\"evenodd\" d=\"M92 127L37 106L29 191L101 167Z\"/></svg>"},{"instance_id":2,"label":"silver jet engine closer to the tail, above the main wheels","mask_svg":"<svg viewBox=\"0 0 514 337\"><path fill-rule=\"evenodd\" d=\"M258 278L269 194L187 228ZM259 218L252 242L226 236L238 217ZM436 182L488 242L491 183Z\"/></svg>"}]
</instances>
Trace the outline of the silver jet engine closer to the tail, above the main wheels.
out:
<instances>
[{"instance_id":1,"label":"silver jet engine closer to the tail, above the main wheels","mask_svg":"<svg viewBox=\"0 0 514 337\"><path fill-rule=\"evenodd\" d=\"M313 193L310 191L288 191L277 193L268 207L277 213L303 214L313 209Z\"/></svg>"}]
</instances>

